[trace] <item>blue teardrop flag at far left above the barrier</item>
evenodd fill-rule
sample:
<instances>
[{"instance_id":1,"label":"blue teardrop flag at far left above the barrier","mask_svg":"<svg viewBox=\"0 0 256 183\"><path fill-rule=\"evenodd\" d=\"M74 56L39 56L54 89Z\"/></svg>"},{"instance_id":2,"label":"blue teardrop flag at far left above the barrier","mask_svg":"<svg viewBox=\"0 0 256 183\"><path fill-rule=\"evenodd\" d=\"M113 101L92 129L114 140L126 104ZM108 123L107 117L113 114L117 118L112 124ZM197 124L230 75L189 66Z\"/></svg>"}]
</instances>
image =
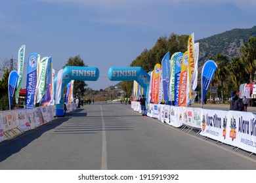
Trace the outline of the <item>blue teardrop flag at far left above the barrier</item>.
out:
<instances>
[{"instance_id":1,"label":"blue teardrop flag at far left above the barrier","mask_svg":"<svg viewBox=\"0 0 256 183\"><path fill-rule=\"evenodd\" d=\"M11 71L8 79L8 93L9 93L9 109L12 107L12 100L14 97L15 89L18 83L18 73L17 71Z\"/></svg>"}]
</instances>

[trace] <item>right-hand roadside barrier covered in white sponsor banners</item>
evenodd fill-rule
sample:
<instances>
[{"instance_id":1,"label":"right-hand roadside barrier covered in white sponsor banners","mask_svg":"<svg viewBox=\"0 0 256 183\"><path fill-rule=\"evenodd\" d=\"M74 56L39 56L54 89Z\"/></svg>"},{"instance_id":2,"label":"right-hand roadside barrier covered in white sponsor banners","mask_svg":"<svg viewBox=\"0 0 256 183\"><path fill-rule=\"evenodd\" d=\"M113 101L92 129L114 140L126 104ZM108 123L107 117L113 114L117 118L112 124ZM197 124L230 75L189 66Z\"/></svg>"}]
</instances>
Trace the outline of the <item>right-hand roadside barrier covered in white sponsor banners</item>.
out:
<instances>
[{"instance_id":1,"label":"right-hand roadside barrier covered in white sponsor banners","mask_svg":"<svg viewBox=\"0 0 256 183\"><path fill-rule=\"evenodd\" d=\"M211 138L217 142L234 146L256 154L256 115L252 112L234 110L209 110L193 107L175 107L170 105L148 104L148 116L161 122L179 127L203 139ZM131 108L141 113L140 104L131 102ZM234 149L233 148L233 149Z\"/></svg>"}]
</instances>

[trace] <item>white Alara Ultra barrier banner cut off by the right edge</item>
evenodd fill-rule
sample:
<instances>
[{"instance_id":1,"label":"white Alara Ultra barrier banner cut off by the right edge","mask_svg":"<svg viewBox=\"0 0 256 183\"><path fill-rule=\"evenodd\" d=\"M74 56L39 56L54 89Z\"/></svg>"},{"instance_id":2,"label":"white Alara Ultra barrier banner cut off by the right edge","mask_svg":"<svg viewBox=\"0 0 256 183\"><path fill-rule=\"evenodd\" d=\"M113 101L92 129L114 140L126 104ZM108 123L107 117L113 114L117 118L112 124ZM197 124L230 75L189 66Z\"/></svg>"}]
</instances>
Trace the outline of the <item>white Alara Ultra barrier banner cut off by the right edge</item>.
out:
<instances>
[{"instance_id":1,"label":"white Alara Ultra barrier banner cut off by the right edge","mask_svg":"<svg viewBox=\"0 0 256 183\"><path fill-rule=\"evenodd\" d=\"M256 115L251 112L228 112L226 124L228 144L256 153Z\"/></svg>"}]
</instances>

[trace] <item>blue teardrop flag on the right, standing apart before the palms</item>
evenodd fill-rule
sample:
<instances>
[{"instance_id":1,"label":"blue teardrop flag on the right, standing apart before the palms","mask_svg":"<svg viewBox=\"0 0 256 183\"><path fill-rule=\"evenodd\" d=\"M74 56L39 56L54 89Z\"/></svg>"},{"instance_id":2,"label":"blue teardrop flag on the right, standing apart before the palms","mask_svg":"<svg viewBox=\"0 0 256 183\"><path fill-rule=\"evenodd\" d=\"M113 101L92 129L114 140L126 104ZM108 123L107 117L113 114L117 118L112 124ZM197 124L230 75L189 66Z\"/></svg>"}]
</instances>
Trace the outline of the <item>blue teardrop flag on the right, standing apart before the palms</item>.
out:
<instances>
[{"instance_id":1,"label":"blue teardrop flag on the right, standing apart before the palms","mask_svg":"<svg viewBox=\"0 0 256 183\"><path fill-rule=\"evenodd\" d=\"M201 78L202 105L203 105L203 100L205 99L206 93L209 89L211 80L213 79L216 69L217 69L217 64L213 60L208 60L203 65L202 78Z\"/></svg>"}]
</instances>

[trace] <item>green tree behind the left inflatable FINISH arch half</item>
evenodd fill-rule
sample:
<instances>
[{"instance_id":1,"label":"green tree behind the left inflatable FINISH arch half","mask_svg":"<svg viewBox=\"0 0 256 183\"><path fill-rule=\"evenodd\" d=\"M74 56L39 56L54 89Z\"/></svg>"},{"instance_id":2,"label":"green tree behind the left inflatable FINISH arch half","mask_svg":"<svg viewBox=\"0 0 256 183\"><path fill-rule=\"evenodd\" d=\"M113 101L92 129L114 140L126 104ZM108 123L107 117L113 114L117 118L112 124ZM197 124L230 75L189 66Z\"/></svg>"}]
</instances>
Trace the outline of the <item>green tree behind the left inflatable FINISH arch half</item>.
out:
<instances>
[{"instance_id":1,"label":"green tree behind the left inflatable FINISH arch half","mask_svg":"<svg viewBox=\"0 0 256 183\"><path fill-rule=\"evenodd\" d=\"M66 67L66 66L87 67L87 65L85 65L85 63L83 62L83 59L81 59L80 56L75 56L74 58L69 58L68 62L64 65L64 67ZM74 89L73 89L74 97L76 97L76 95L78 95L78 97L83 97L84 92L85 92L85 86L87 86L87 84L84 81L75 80L74 81Z\"/></svg>"}]
</instances>

